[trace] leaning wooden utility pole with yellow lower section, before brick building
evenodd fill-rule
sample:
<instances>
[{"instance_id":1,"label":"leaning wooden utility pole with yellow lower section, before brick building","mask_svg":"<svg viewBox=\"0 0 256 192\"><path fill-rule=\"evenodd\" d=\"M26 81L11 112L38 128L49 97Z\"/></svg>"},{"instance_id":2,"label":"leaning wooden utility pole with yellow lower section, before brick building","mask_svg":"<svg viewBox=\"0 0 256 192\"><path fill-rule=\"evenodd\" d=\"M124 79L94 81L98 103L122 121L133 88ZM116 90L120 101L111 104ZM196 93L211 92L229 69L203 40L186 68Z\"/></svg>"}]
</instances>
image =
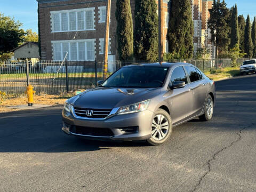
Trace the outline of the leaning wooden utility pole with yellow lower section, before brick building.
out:
<instances>
[{"instance_id":1,"label":"leaning wooden utility pole with yellow lower section, before brick building","mask_svg":"<svg viewBox=\"0 0 256 192\"><path fill-rule=\"evenodd\" d=\"M107 17L106 17L106 35L104 41L104 66L103 66L103 79L107 78L108 73L108 39L109 39L109 20L110 20L110 9L111 9L111 0L107 0Z\"/></svg>"}]
</instances>

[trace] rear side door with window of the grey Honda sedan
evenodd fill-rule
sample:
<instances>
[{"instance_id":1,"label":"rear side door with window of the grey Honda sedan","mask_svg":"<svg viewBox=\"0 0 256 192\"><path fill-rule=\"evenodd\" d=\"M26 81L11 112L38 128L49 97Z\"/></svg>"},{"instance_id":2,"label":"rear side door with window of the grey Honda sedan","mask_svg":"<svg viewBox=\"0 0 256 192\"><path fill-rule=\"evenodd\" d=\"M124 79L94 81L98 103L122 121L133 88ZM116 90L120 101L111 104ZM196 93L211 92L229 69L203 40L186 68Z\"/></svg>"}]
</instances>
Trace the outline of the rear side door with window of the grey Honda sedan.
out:
<instances>
[{"instance_id":1,"label":"rear side door with window of the grey Honda sedan","mask_svg":"<svg viewBox=\"0 0 256 192\"><path fill-rule=\"evenodd\" d=\"M193 92L193 114L198 115L201 113L206 98L206 87L201 72L192 66L185 66L185 70L190 80L190 89Z\"/></svg>"}]
</instances>

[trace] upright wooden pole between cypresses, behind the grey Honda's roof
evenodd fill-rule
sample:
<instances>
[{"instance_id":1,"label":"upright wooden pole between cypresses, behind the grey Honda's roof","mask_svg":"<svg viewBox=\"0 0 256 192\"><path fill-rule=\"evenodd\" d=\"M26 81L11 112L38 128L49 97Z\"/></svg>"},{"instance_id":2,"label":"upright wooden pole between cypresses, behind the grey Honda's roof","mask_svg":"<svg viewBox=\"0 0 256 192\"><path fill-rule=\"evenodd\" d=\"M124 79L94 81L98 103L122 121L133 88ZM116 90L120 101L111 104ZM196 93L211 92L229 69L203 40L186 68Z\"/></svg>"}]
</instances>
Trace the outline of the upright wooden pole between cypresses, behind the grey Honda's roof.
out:
<instances>
[{"instance_id":1,"label":"upright wooden pole between cypresses, behind the grey Honda's roof","mask_svg":"<svg viewBox=\"0 0 256 192\"><path fill-rule=\"evenodd\" d=\"M162 64L164 60L163 50L163 29L164 29L164 15L163 15L163 0L158 0L158 61Z\"/></svg>"}]
</instances>

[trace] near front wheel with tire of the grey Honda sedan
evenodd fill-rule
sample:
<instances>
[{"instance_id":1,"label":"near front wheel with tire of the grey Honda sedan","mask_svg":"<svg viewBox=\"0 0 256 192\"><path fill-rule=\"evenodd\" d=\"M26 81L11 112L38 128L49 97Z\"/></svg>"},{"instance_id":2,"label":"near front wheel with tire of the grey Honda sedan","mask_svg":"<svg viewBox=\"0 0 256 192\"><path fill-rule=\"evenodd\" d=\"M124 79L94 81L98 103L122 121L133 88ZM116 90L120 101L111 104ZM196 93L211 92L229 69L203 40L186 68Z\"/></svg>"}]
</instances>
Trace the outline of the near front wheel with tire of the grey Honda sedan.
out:
<instances>
[{"instance_id":1,"label":"near front wheel with tire of the grey Honda sedan","mask_svg":"<svg viewBox=\"0 0 256 192\"><path fill-rule=\"evenodd\" d=\"M172 134L172 119L167 111L158 109L152 121L152 136L147 139L150 145L161 145L170 138Z\"/></svg>"}]
</instances>

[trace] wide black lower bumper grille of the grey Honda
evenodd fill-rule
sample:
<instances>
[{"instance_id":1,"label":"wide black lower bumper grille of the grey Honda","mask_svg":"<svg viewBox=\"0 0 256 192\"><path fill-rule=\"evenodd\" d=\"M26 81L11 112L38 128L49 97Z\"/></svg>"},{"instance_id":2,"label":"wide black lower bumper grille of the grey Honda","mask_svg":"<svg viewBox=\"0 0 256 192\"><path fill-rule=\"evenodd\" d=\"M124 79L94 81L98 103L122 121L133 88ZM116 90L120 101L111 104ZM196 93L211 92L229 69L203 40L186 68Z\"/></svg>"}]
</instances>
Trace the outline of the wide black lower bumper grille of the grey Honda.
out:
<instances>
[{"instance_id":1,"label":"wide black lower bumper grille of the grey Honda","mask_svg":"<svg viewBox=\"0 0 256 192\"><path fill-rule=\"evenodd\" d=\"M91 136L98 136L98 137L114 136L113 132L108 128L73 126L71 129L71 132L76 134L81 134L81 135L91 135Z\"/></svg>"}]
</instances>

